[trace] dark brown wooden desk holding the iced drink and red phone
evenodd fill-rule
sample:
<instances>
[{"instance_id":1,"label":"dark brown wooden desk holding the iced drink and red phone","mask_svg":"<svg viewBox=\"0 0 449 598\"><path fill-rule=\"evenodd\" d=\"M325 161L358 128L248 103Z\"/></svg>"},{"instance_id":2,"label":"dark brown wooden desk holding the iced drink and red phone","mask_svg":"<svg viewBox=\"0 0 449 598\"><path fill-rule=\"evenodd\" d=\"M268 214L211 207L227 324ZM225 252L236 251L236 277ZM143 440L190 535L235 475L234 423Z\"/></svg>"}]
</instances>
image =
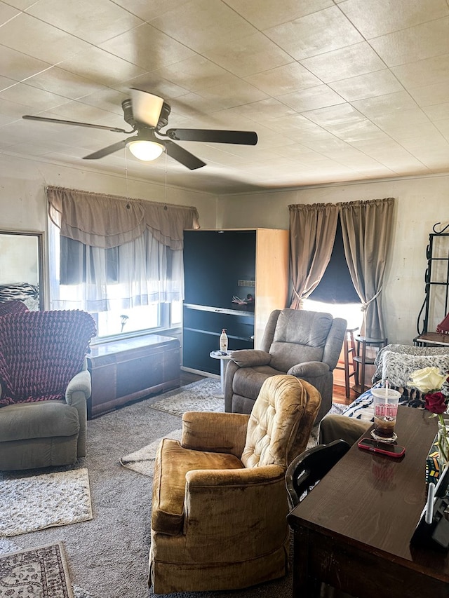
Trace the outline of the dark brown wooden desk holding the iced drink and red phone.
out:
<instances>
[{"instance_id":1,"label":"dark brown wooden desk holding the iced drink and red phone","mask_svg":"<svg viewBox=\"0 0 449 598\"><path fill-rule=\"evenodd\" d=\"M449 556L409 544L426 502L436 427L429 412L399 407L403 458L354 444L293 509L294 597L319 597L325 582L358 598L448 598Z\"/></svg>"}]
</instances>

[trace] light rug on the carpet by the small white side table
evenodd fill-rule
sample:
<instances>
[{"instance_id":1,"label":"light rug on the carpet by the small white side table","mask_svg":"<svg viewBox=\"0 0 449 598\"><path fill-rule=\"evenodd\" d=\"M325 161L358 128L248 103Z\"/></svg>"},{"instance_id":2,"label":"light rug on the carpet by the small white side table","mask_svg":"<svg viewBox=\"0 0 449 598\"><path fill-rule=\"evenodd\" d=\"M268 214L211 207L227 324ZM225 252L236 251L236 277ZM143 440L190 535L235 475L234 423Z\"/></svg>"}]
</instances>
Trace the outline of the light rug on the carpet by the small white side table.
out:
<instances>
[{"instance_id":1,"label":"light rug on the carpet by the small white side table","mask_svg":"<svg viewBox=\"0 0 449 598\"><path fill-rule=\"evenodd\" d=\"M152 409L179 416L186 411L225 411L225 400L213 396L217 393L220 393L220 380L205 378L164 393L152 403Z\"/></svg>"}]
</instances>

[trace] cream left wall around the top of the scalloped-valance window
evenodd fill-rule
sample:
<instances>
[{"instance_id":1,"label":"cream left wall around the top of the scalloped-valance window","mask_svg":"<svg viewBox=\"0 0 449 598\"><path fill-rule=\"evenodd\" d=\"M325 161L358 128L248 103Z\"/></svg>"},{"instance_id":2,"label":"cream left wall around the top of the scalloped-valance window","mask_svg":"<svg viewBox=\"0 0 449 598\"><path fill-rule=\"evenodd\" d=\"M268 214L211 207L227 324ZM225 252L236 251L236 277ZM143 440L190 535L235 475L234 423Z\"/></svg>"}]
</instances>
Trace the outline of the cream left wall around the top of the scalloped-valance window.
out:
<instances>
[{"instance_id":1,"label":"cream left wall around the top of the scalloped-valance window","mask_svg":"<svg viewBox=\"0 0 449 598\"><path fill-rule=\"evenodd\" d=\"M179 205L194 205L202 228L214 228L216 199L208 193L164 188L138 179L128 179L95 170L53 165L0 156L0 229L11 231L47 231L45 187L55 185L98 193L112 193ZM44 245L45 245L44 241ZM48 272L48 253L44 252L44 275ZM44 276L44 277L45 277ZM48 284L46 285L48 297Z\"/></svg>"}]
</instances>

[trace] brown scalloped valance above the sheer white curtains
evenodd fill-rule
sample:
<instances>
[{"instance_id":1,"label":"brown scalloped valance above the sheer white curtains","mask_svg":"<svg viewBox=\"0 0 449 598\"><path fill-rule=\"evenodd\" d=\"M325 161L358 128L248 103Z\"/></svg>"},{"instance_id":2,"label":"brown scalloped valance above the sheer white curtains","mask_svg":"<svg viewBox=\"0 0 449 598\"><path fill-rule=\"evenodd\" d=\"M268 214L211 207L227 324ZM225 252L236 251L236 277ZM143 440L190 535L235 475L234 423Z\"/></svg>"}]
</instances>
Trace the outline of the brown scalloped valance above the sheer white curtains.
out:
<instances>
[{"instance_id":1,"label":"brown scalloped valance above the sheer white curtains","mask_svg":"<svg viewBox=\"0 0 449 598\"><path fill-rule=\"evenodd\" d=\"M54 186L46 191L48 214L61 235L91 247L118 247L149 229L159 243L182 250L183 231L199 229L198 210L192 206Z\"/></svg>"}]
</instances>

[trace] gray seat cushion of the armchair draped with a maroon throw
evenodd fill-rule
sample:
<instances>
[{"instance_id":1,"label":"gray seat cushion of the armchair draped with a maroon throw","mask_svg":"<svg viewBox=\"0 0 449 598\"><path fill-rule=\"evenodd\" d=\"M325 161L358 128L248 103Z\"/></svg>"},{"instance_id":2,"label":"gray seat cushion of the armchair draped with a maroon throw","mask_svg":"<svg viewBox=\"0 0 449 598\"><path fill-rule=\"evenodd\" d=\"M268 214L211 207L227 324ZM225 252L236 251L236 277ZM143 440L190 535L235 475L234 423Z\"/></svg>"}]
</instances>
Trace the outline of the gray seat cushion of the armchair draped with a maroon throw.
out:
<instances>
[{"instance_id":1,"label":"gray seat cushion of the armchair draped with a maroon throw","mask_svg":"<svg viewBox=\"0 0 449 598\"><path fill-rule=\"evenodd\" d=\"M21 403L1 409L1 442L74 436L79 429L78 411L65 401Z\"/></svg>"}]
</instances>

